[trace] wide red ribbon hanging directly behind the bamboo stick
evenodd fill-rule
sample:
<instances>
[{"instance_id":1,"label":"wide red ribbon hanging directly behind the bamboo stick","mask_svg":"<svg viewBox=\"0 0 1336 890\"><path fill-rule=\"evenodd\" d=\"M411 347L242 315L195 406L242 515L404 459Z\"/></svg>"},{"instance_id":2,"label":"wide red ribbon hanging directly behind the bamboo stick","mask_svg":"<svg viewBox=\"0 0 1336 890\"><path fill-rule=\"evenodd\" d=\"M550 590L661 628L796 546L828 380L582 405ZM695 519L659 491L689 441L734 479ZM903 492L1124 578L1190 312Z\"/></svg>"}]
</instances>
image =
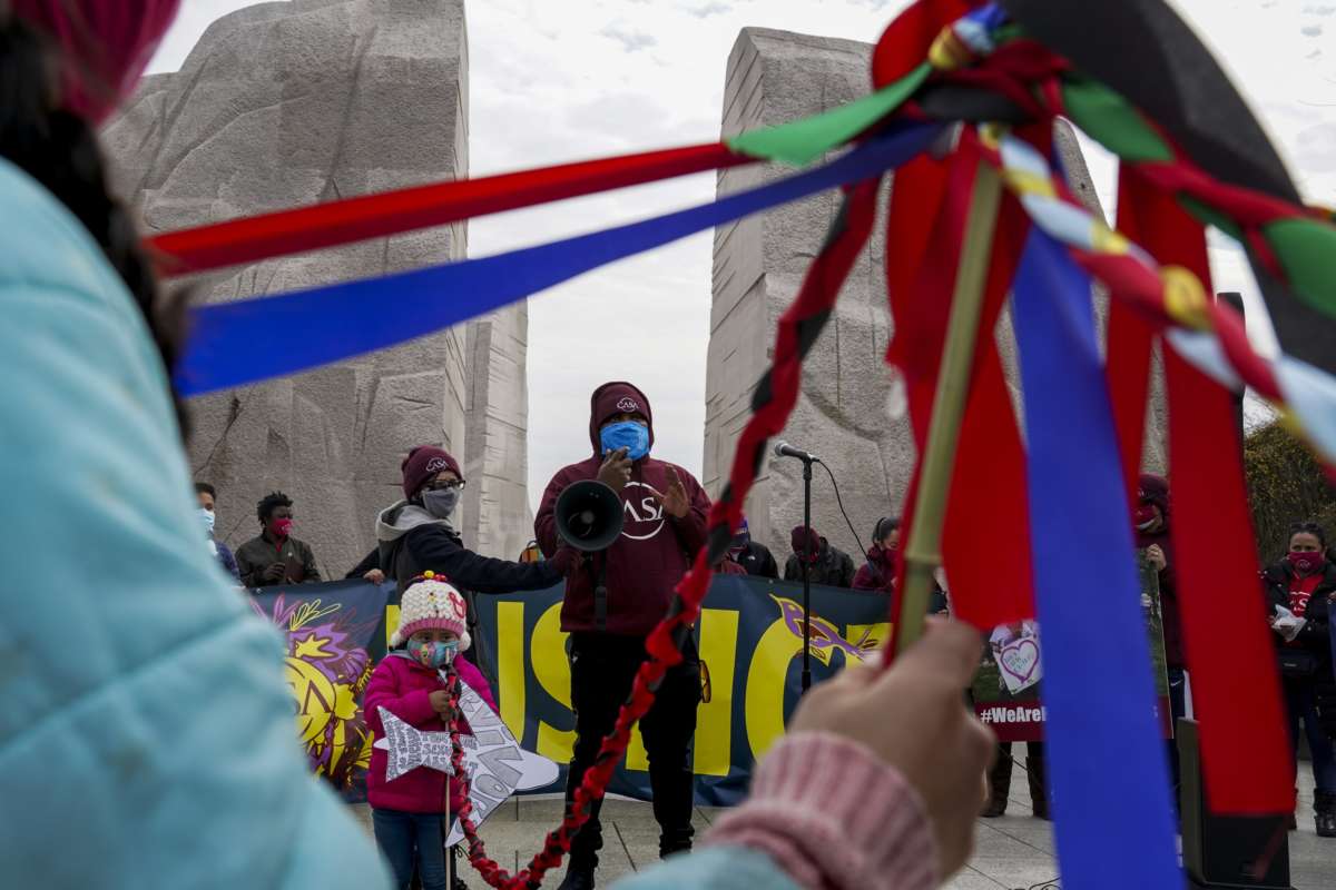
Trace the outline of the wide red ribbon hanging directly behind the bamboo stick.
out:
<instances>
[{"instance_id":1,"label":"wide red ribbon hanging directly behind the bamboo stick","mask_svg":"<svg viewBox=\"0 0 1336 890\"><path fill-rule=\"evenodd\" d=\"M898 173L891 189L886 270L896 332L887 360L904 378L921 455L927 446L978 161L977 148L962 144L950 169L914 161ZM914 164L919 167L911 169ZM918 176L925 181L915 184ZM915 219L919 230L927 228L923 213L934 205L941 209L931 242L925 246L912 228ZM942 531L942 562L951 586L953 612L977 627L994 627L1034 614L1025 452L993 336L1026 231L1025 211L1011 196L1003 196ZM912 291L906 286L910 270L916 271ZM906 516L914 515L916 496L918 467L906 498Z\"/></svg>"}]
</instances>

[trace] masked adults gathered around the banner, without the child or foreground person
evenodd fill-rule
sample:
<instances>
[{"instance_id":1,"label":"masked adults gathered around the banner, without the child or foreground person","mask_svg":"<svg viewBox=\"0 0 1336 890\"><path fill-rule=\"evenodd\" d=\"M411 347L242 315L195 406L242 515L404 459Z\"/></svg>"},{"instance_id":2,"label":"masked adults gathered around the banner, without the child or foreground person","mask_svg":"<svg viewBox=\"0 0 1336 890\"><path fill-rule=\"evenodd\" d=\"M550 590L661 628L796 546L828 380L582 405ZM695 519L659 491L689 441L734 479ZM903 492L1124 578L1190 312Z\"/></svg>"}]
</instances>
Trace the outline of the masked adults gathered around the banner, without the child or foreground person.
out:
<instances>
[{"instance_id":1,"label":"masked adults gathered around the banner, without the child or foreground person","mask_svg":"<svg viewBox=\"0 0 1336 890\"><path fill-rule=\"evenodd\" d=\"M410 452L402 467L405 499L387 507L377 519L378 548L347 575L375 583L385 578L395 579L401 595L424 571L436 571L474 592L537 590L565 579L562 630L572 634L572 705L577 714L576 757L569 771L568 797L578 786L599 742L612 729L635 670L644 659L644 636L663 615L673 584L685 572L692 547L703 542L708 510L708 499L685 470L648 458L653 442L652 414L640 390L629 383L605 384L595 392L591 408L595 454L564 468L548 486L534 526L537 554L510 563L466 550L449 522L465 483L458 463L441 448L421 446ZM643 487L656 504L649 510L629 511L628 520L639 523L637 527L629 530L616 546L592 558L562 546L553 514L561 491L581 479L599 479L619 492L628 486ZM198 483L196 492L206 530L211 532L216 492L207 483ZM1133 515L1136 543L1158 574L1170 717L1177 725L1186 714L1186 671L1168 480L1142 475L1137 495ZM281 492L266 496L258 506L258 519L261 534L238 550L235 560L226 546L210 540L224 568L250 586L319 580L310 547L290 535L291 500ZM660 534L664 530L672 534ZM806 576L814 584L880 591L894 596L899 542L900 520L895 516L878 519L866 558L855 570L852 559L823 535L798 526L791 534L792 552L787 556L783 578L802 580L806 563ZM1336 563L1327 559L1325 551L1323 528L1299 523L1293 528L1287 558L1269 566L1263 579L1272 610L1269 623L1276 631L1289 733L1297 749L1303 729L1312 755L1316 830L1321 837L1336 837L1336 753L1332 745L1336 735L1336 679L1332 678L1327 623L1328 602L1336 596ZM647 572L645 566L663 568ZM745 520L716 570L779 576L774 555L751 538ZM947 611L947 595L941 587L934 591L929 611ZM669 675L655 709L643 723L651 758L655 815L663 830L660 851L664 855L691 847L687 750L696 725L699 670L696 654L691 650L684 663ZM490 701L490 690L485 691L485 698ZM989 797L981 813L986 818L1007 811L1017 763L1011 747L1010 742L997 745L989 773ZM1166 753L1177 799L1181 778L1173 738L1166 741ZM1025 773L1033 815L1047 819L1043 742L1026 742ZM596 806L593 818L572 847L566 887L593 885L597 850L603 843L597 813ZM1291 822L1295 822L1293 817ZM390 858L394 861L394 857Z\"/></svg>"}]
</instances>

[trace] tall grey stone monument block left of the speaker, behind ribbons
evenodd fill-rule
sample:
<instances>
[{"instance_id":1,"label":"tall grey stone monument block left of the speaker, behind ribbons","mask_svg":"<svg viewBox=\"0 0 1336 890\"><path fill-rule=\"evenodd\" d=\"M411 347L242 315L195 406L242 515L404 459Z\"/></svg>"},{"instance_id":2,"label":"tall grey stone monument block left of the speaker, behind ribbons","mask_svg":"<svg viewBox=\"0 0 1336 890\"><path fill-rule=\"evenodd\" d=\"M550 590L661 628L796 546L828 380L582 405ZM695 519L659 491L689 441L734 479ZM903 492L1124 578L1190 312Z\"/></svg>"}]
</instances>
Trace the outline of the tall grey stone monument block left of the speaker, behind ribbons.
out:
<instances>
[{"instance_id":1,"label":"tall grey stone monument block left of the speaker, behind ribbons","mask_svg":"<svg viewBox=\"0 0 1336 890\"><path fill-rule=\"evenodd\" d=\"M468 41L462 0L293 0L243 8L204 32L179 72L144 80L104 131L123 193L150 232L468 175ZM222 302L370 278L465 256L466 227L350 244L200 275L196 302ZM446 298L448 295L442 295ZM295 534L326 576L374 546L377 511L399 494L399 462L440 444L468 451L469 380L518 367L522 455L522 307L494 319L517 331L476 362L468 326L290 379L192 400L190 458L219 488L218 536L257 534L273 488L297 502ZM496 324L497 322L488 322ZM303 336L301 330L293 338ZM506 350L518 352L506 352ZM508 391L506 398L514 396ZM485 402L476 410L485 426ZM476 430L486 438L486 430ZM510 503L522 456L489 470ZM468 475L468 471L466 471ZM470 483L473 480L470 479ZM484 486L486 488L488 486ZM466 534L493 519L466 500ZM525 523L518 523L526 534Z\"/></svg>"}]
</instances>

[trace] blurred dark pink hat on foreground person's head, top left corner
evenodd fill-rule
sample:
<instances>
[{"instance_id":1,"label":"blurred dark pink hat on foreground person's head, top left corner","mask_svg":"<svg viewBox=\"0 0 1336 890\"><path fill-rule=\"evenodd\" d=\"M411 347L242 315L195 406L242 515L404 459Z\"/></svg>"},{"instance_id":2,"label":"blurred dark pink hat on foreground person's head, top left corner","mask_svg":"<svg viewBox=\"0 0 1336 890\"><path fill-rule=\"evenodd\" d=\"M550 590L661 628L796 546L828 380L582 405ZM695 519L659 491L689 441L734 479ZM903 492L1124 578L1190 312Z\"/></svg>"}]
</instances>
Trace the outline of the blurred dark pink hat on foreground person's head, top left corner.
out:
<instances>
[{"instance_id":1,"label":"blurred dark pink hat on foreground person's head, top left corner","mask_svg":"<svg viewBox=\"0 0 1336 890\"><path fill-rule=\"evenodd\" d=\"M92 123L128 96L180 0L9 0L61 51L64 104Z\"/></svg>"}]
</instances>

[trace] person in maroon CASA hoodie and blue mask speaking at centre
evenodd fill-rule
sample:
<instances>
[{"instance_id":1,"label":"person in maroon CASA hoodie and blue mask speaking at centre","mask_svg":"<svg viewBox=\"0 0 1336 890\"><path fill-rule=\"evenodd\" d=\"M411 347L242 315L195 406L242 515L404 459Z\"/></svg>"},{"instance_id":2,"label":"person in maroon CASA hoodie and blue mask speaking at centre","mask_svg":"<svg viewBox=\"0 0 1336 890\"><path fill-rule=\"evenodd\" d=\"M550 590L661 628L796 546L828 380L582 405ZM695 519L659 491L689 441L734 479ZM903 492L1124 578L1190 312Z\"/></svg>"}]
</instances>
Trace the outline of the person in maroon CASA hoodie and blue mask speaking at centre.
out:
<instances>
[{"instance_id":1,"label":"person in maroon CASA hoodie and blue mask speaking at centre","mask_svg":"<svg viewBox=\"0 0 1336 890\"><path fill-rule=\"evenodd\" d=\"M589 399L593 454L562 468L548 483L534 519L544 554L560 546L557 496L573 482L599 479L621 495L621 536L593 554L566 578L561 630L570 634L570 703L576 745L566 775L566 801L593 763L603 738L631 694L647 658L645 636L668 611L673 587L705 543L709 498L689 472L649 456L653 412L645 394L629 383L605 383ZM692 770L688 758L700 703L700 660L688 638L680 664L668 671L653 707L640 721L649 754L649 786L659 822L659 853L689 850ZM595 886L603 827L600 803L570 845L561 887Z\"/></svg>"}]
</instances>

